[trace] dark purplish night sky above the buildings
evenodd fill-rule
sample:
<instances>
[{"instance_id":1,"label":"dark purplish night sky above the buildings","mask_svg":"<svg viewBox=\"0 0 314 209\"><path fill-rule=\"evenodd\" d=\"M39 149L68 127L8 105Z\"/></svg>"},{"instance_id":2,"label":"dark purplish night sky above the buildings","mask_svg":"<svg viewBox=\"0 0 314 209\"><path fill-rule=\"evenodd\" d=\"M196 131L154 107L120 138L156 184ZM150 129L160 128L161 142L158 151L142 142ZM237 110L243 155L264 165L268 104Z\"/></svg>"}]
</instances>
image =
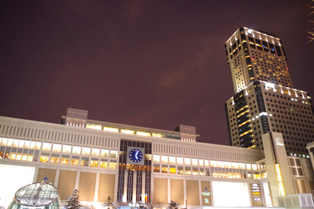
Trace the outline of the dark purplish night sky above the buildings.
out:
<instances>
[{"instance_id":1,"label":"dark purplish night sky above the buildings","mask_svg":"<svg viewBox=\"0 0 314 209\"><path fill-rule=\"evenodd\" d=\"M228 145L226 40L241 26L276 34L295 88L314 95L306 3L0 1L0 115L61 123L72 107L98 121L194 125L198 141Z\"/></svg>"}]
</instances>

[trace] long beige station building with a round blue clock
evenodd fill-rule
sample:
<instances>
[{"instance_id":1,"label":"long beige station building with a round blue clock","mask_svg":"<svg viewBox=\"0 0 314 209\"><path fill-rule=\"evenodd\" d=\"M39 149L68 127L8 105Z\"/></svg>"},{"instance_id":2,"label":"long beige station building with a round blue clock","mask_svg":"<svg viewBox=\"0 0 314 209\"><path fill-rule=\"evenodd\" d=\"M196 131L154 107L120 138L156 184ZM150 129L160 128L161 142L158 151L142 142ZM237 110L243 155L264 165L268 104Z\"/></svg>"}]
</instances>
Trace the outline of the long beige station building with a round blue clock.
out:
<instances>
[{"instance_id":1,"label":"long beige station building with a round blue clock","mask_svg":"<svg viewBox=\"0 0 314 209\"><path fill-rule=\"evenodd\" d=\"M180 208L279 206L297 195L311 206L311 160L287 156L278 132L262 135L264 150L196 142L195 127L157 130L88 119L68 109L62 124L0 116L0 205L20 187L48 178L65 203L73 189L86 207L108 196Z\"/></svg>"}]
</instances>

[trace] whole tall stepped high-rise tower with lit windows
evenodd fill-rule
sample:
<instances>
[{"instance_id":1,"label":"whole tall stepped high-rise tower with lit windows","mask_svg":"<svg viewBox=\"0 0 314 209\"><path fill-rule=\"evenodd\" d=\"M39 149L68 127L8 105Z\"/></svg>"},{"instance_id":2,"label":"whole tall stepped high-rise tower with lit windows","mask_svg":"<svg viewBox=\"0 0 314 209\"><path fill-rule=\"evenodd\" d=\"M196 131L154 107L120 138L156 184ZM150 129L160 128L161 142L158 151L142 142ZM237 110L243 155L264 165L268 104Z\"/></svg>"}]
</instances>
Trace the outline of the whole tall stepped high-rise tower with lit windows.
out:
<instances>
[{"instance_id":1,"label":"whole tall stepped high-rise tower with lit windows","mask_svg":"<svg viewBox=\"0 0 314 209\"><path fill-rule=\"evenodd\" d=\"M240 28L225 47L235 91L225 104L230 145L263 149L262 134L281 132L287 155L308 157L311 95L293 88L281 40Z\"/></svg>"}]
</instances>

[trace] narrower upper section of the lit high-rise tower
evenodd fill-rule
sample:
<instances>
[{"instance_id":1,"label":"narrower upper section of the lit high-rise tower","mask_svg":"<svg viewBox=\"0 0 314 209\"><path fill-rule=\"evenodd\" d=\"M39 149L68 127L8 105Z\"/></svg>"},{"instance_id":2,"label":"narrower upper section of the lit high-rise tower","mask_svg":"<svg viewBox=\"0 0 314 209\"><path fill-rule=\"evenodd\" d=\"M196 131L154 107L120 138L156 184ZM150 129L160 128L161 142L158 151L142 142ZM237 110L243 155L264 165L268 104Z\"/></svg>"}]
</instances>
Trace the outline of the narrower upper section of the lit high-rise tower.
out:
<instances>
[{"instance_id":1,"label":"narrower upper section of the lit high-rise tower","mask_svg":"<svg viewBox=\"0 0 314 209\"><path fill-rule=\"evenodd\" d=\"M276 36L244 27L233 33L225 48L235 93L254 81L293 88L285 50Z\"/></svg>"}]
</instances>

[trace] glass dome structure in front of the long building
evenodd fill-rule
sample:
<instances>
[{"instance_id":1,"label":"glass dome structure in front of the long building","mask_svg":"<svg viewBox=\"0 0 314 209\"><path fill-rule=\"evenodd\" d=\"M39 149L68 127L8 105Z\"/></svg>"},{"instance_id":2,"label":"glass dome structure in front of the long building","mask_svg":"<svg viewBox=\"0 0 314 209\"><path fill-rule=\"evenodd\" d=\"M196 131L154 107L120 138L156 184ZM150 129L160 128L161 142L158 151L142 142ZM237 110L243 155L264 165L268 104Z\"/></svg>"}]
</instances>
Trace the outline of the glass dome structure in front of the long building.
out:
<instances>
[{"instance_id":1,"label":"glass dome structure in front of the long building","mask_svg":"<svg viewBox=\"0 0 314 209\"><path fill-rule=\"evenodd\" d=\"M61 208L58 189L45 182L26 185L17 190L8 208Z\"/></svg>"}]
</instances>

